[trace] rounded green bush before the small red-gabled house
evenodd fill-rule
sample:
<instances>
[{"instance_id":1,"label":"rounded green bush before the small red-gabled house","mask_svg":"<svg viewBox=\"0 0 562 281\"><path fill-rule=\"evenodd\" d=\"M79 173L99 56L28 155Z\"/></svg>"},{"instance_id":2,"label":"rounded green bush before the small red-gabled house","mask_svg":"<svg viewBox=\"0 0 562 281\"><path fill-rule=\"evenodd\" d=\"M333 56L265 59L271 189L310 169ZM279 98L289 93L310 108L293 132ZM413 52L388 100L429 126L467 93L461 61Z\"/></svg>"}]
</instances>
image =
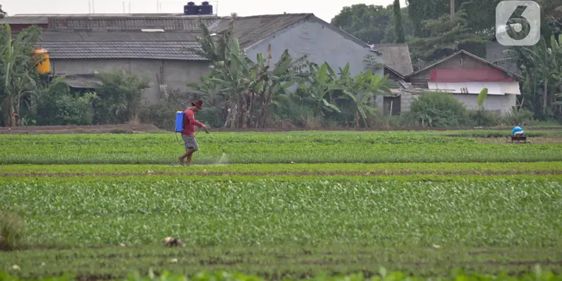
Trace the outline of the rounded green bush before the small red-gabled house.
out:
<instances>
[{"instance_id":1,"label":"rounded green bush before the small red-gabled house","mask_svg":"<svg viewBox=\"0 0 562 281\"><path fill-rule=\"evenodd\" d=\"M470 117L466 105L450 93L427 92L412 101L409 119L419 124L437 127L469 126Z\"/></svg>"}]
</instances>

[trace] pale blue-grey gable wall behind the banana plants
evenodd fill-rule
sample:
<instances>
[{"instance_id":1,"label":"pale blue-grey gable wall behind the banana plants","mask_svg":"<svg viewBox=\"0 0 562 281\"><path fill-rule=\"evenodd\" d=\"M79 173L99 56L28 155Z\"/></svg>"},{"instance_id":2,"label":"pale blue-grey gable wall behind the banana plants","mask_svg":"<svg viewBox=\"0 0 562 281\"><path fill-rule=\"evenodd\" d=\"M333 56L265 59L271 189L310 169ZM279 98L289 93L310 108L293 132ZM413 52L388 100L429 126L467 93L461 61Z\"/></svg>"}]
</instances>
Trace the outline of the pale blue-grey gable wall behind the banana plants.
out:
<instances>
[{"instance_id":1,"label":"pale blue-grey gable wall behind the banana plants","mask_svg":"<svg viewBox=\"0 0 562 281\"><path fill-rule=\"evenodd\" d=\"M311 20L287 27L258 44L250 46L246 52L254 61L258 53L262 53L264 58L267 58L267 49L270 45L273 63L279 60L285 50L289 50L292 58L306 55L308 60L318 65L327 62L336 73L339 72L338 67L344 68L349 63L349 72L356 75L367 70L367 64L363 61L366 55L373 55L379 63L384 63L382 55L370 51L370 48L363 44L358 39L353 40L346 37L327 22L311 18ZM384 70L378 70L374 74L383 77ZM294 88L296 87L293 86L291 89ZM377 96L377 105L382 111L384 108L383 96Z\"/></svg>"}]
</instances>

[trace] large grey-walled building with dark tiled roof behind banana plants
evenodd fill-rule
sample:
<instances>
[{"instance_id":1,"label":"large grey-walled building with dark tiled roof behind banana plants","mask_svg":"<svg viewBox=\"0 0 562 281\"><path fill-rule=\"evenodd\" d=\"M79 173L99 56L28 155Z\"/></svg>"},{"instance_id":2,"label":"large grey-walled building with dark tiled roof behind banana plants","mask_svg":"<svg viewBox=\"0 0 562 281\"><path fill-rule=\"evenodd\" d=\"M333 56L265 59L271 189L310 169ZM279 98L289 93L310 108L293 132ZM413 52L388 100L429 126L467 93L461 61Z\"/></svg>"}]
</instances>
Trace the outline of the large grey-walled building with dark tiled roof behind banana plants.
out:
<instances>
[{"instance_id":1,"label":"large grey-walled building with dark tiled roof behind banana plants","mask_svg":"<svg viewBox=\"0 0 562 281\"><path fill-rule=\"evenodd\" d=\"M27 15L8 20L25 22ZM73 86L95 72L126 70L144 74L150 80L145 93L156 102L170 91L190 91L186 84L200 81L209 72L204 58L181 51L197 47L198 20L211 32L226 30L230 22L240 46L249 58L267 56L273 61L289 50L298 58L307 55L314 63L329 63L335 70L351 65L351 74L367 70L366 55L384 63L380 53L351 34L315 17L312 13L218 17L183 14L91 14L30 15L35 24L46 26L39 44L50 55L51 71L65 74ZM8 22L9 23L9 22ZM383 70L378 70L383 74Z\"/></svg>"}]
</instances>

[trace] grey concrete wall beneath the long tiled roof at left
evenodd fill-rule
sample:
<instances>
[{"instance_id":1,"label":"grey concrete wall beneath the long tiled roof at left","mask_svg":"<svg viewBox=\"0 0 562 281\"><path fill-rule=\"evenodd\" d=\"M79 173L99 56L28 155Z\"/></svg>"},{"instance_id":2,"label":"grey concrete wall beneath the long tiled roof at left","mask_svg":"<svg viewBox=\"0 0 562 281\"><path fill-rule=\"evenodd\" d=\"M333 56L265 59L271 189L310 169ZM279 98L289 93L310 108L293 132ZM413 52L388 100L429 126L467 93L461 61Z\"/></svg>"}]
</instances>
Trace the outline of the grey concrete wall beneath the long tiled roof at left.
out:
<instances>
[{"instance_id":1,"label":"grey concrete wall beneath the long tiled roof at left","mask_svg":"<svg viewBox=\"0 0 562 281\"><path fill-rule=\"evenodd\" d=\"M162 74L167 91L174 89L186 91L188 82L198 82L200 76L209 72L208 63L181 60L139 60L139 59L51 59L53 74L92 74L95 71L125 70L144 74L150 81L150 89L145 91L149 103L161 98L158 78ZM162 72L162 74L161 74Z\"/></svg>"}]
</instances>

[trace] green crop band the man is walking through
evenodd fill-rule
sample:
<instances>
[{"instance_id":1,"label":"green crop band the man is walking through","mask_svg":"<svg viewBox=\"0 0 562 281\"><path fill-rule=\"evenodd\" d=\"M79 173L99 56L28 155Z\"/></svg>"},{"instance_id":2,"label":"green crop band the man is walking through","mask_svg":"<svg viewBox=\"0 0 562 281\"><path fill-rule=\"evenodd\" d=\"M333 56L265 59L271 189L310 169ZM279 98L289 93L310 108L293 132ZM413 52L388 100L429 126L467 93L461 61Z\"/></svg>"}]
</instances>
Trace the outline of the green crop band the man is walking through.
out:
<instances>
[{"instance_id":1,"label":"green crop band the man is walking through","mask_svg":"<svg viewBox=\"0 0 562 281\"><path fill-rule=\"evenodd\" d=\"M562 144L484 144L416 133L217 133L197 136L194 164L551 162ZM184 152L173 134L0 136L0 164L174 164ZM221 161L223 160L223 161Z\"/></svg>"}]
</instances>

